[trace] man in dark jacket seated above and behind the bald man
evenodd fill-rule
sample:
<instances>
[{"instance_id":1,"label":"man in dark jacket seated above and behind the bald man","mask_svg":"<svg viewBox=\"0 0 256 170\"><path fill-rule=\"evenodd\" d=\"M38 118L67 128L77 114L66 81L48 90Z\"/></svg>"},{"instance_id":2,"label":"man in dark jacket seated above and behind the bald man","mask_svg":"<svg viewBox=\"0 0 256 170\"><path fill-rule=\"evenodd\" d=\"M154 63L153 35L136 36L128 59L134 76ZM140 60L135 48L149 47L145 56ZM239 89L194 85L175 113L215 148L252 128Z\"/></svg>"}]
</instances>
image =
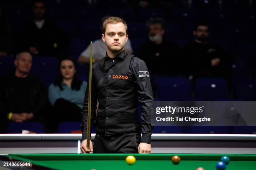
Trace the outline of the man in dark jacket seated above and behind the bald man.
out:
<instances>
[{"instance_id":1,"label":"man in dark jacket seated above and behind the bald man","mask_svg":"<svg viewBox=\"0 0 256 170\"><path fill-rule=\"evenodd\" d=\"M18 34L18 50L28 50L33 55L59 55L69 45L69 38L58 25L45 18L43 0L33 4L33 20L27 20Z\"/></svg>"}]
</instances>

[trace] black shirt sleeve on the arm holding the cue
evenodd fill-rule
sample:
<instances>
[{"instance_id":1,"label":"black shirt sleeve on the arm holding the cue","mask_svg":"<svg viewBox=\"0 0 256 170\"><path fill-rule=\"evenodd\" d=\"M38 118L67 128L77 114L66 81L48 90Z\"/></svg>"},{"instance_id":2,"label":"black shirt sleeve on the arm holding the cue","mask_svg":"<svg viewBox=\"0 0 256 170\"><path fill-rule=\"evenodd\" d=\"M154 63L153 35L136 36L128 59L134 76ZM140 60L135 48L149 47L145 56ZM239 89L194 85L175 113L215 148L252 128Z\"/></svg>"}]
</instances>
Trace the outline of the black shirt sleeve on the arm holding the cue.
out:
<instances>
[{"instance_id":1,"label":"black shirt sleeve on the arm holding the cue","mask_svg":"<svg viewBox=\"0 0 256 170\"><path fill-rule=\"evenodd\" d=\"M92 71L93 75L93 71ZM82 108L82 124L81 124L81 131L82 131L82 140L87 139L87 119L88 119L88 96L89 96L89 83L86 87L85 97L84 97L84 105ZM93 80L92 76L92 91L91 91L91 126L93 125L93 121L96 117L96 109L97 109L97 86ZM92 129L92 128L91 128Z\"/></svg>"}]
</instances>

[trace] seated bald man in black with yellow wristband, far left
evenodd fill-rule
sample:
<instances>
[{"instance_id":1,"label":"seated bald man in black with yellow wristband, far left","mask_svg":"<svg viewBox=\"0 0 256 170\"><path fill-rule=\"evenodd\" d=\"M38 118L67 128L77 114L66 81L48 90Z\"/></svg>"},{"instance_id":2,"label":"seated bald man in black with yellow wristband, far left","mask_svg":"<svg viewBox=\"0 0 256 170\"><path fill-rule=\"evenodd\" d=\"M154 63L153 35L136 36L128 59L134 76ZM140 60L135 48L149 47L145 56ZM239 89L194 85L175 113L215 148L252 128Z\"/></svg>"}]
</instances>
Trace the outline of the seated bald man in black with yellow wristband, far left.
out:
<instances>
[{"instance_id":1,"label":"seated bald man in black with yellow wristband, far left","mask_svg":"<svg viewBox=\"0 0 256 170\"><path fill-rule=\"evenodd\" d=\"M0 84L0 113L3 127L10 121L43 121L46 108L46 88L30 74L32 56L21 52L15 60L15 71L3 77Z\"/></svg>"}]
</instances>

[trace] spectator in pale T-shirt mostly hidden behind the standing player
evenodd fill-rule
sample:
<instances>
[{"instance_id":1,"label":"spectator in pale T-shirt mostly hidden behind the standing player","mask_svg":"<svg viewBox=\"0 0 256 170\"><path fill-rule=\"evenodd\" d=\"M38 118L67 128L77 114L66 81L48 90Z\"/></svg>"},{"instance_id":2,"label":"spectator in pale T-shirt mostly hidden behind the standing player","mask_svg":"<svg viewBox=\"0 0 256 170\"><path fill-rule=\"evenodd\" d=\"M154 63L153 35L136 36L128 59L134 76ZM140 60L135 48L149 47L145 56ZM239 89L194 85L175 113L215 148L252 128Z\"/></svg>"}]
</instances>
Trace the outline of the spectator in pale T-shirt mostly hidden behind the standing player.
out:
<instances>
[{"instance_id":1,"label":"spectator in pale T-shirt mostly hidden behind the standing player","mask_svg":"<svg viewBox=\"0 0 256 170\"><path fill-rule=\"evenodd\" d=\"M107 18L109 18L109 16L105 16L101 20L101 26L100 26L101 31L102 31L102 24ZM95 40L92 43L93 63L104 58L106 56L106 50L107 50L107 47L105 45L105 42L103 42L101 38L99 40ZM131 47L131 41L129 39L127 40L127 43L125 45L125 52L129 54L133 53L133 49ZM78 58L78 62L90 63L90 45L88 45L88 47L81 53L80 57Z\"/></svg>"}]
</instances>

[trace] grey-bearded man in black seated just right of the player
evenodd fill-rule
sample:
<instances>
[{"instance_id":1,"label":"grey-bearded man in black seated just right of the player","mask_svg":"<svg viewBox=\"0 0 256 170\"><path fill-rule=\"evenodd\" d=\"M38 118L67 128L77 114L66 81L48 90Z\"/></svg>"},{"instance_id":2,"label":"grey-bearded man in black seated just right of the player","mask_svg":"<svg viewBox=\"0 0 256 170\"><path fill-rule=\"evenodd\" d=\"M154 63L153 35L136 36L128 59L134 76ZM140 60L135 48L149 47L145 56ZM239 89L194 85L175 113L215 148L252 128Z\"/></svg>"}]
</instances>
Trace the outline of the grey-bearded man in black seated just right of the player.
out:
<instances>
[{"instance_id":1,"label":"grey-bearded man in black seated just right of the player","mask_svg":"<svg viewBox=\"0 0 256 170\"><path fill-rule=\"evenodd\" d=\"M164 39L165 21L151 18L146 24L148 41L141 46L139 57L146 62L151 75L179 75L181 48L177 43Z\"/></svg>"}]
</instances>

